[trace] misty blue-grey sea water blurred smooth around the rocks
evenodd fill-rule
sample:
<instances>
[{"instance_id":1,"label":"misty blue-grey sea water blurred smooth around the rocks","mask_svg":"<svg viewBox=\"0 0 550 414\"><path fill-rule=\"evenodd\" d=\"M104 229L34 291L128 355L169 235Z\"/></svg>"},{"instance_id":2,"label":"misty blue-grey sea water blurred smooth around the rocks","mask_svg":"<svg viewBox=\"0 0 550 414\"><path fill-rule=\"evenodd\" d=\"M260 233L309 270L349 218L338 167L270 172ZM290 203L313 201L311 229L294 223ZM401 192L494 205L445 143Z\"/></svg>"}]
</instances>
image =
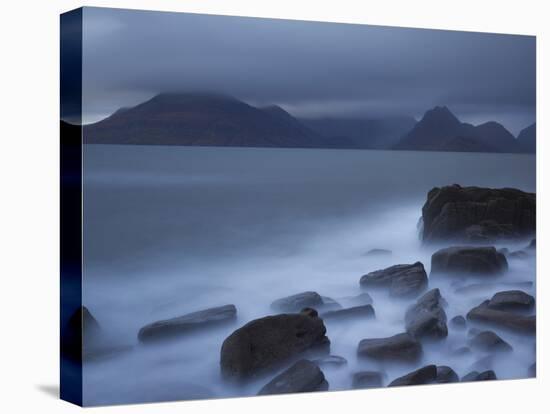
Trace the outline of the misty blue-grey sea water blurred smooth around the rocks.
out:
<instances>
[{"instance_id":1,"label":"misty blue-grey sea water blurred smooth around the rocks","mask_svg":"<svg viewBox=\"0 0 550 414\"><path fill-rule=\"evenodd\" d=\"M362 292L362 275L431 254L418 221L427 192L458 183L535 191L535 157L313 149L193 148L88 145L84 148L83 304L109 344L120 352L84 365L89 405L255 395L276 372L245 385L220 375L223 340L246 322L273 314L283 296L316 291L342 305ZM516 245L497 247L517 250ZM388 257L367 257L373 248ZM448 318L468 310L507 282L535 294L534 256L509 260L500 285L455 292L460 285L430 280L448 302ZM470 282L468 282L470 283ZM464 283L464 284L468 284ZM424 346L412 365L358 359L361 339L404 331L414 300L369 291L376 318L327 322L331 354L343 367L323 367L330 390L351 388L352 374L381 370L384 384L429 363L459 376L485 354L453 356L467 330ZM234 324L155 345L138 330L160 319L224 305L237 307ZM469 323L469 327L476 326ZM480 325L481 326L481 325ZM524 378L535 361L533 336L494 329L513 348L496 357L499 379ZM124 348L128 346L128 348ZM478 369L479 370L479 369Z\"/></svg>"}]
</instances>

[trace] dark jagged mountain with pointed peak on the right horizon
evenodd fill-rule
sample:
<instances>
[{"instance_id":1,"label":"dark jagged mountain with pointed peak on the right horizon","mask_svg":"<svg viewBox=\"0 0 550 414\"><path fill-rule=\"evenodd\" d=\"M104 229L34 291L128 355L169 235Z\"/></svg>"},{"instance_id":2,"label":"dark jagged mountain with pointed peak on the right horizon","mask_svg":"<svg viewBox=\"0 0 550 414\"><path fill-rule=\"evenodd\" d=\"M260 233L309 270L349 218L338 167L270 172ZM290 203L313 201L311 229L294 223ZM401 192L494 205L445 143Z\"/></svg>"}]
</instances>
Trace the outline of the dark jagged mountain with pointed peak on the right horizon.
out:
<instances>
[{"instance_id":1,"label":"dark jagged mountain with pointed peak on the right horizon","mask_svg":"<svg viewBox=\"0 0 550 414\"><path fill-rule=\"evenodd\" d=\"M446 106L427 111L394 147L415 151L519 152L514 136L497 122L473 126L461 122Z\"/></svg>"}]
</instances>

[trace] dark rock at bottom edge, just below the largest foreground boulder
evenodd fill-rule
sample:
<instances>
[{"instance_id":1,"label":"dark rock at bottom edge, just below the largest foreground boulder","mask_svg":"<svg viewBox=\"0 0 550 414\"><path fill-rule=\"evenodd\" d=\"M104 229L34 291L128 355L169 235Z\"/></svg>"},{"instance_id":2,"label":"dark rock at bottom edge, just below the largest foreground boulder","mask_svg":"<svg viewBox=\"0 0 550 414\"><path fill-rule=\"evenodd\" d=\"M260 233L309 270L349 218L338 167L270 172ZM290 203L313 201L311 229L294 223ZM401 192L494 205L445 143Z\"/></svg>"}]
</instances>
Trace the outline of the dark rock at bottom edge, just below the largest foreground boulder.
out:
<instances>
[{"instance_id":1,"label":"dark rock at bottom edge, just below the largest foreground boulder","mask_svg":"<svg viewBox=\"0 0 550 414\"><path fill-rule=\"evenodd\" d=\"M323 371L314 363L302 359L264 385L258 395L326 390L328 382Z\"/></svg>"}]
</instances>

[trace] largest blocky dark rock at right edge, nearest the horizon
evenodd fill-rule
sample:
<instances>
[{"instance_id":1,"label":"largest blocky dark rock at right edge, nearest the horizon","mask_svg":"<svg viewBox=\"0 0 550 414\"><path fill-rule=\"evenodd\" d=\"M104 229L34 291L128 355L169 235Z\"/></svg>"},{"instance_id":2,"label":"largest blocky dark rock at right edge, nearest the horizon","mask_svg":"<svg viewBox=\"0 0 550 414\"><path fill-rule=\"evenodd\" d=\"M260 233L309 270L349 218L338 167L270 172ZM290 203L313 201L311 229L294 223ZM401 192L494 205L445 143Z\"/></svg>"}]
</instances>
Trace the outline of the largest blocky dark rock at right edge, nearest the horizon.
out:
<instances>
[{"instance_id":1,"label":"largest blocky dark rock at right edge, nearest the horizon","mask_svg":"<svg viewBox=\"0 0 550 414\"><path fill-rule=\"evenodd\" d=\"M422 207L424 242L492 241L536 230L536 195L504 188L433 188Z\"/></svg>"}]
</instances>

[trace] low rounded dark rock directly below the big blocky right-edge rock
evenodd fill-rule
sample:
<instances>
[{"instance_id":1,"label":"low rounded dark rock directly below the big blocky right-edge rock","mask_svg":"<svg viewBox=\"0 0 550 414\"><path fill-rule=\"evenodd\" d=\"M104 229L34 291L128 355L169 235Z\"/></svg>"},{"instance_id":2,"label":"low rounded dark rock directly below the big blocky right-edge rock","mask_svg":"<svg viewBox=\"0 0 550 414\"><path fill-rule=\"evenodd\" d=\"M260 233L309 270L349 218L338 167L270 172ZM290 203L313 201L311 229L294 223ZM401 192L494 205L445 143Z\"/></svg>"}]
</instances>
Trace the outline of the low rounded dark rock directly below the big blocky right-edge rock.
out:
<instances>
[{"instance_id":1,"label":"low rounded dark rock directly below the big blocky right-edge rock","mask_svg":"<svg viewBox=\"0 0 550 414\"><path fill-rule=\"evenodd\" d=\"M432 255L432 275L495 276L508 270L506 257L494 247L447 247Z\"/></svg>"}]
</instances>

